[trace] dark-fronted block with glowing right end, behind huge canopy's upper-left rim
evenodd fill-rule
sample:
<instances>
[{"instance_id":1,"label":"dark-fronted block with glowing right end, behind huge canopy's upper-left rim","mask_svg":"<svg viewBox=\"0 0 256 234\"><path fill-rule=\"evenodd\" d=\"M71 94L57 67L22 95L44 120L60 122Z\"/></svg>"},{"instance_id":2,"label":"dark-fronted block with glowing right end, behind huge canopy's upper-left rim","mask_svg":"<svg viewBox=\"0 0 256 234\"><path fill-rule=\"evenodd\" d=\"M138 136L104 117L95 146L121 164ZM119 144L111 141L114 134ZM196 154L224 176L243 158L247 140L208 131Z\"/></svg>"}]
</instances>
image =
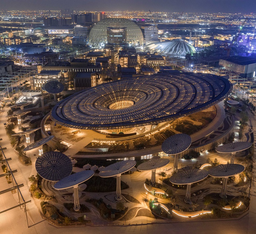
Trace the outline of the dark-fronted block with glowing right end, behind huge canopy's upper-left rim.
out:
<instances>
[{"instance_id":1,"label":"dark-fronted block with glowing right end, behind huge canopy's upper-left rim","mask_svg":"<svg viewBox=\"0 0 256 234\"><path fill-rule=\"evenodd\" d=\"M84 89L96 86L96 74L79 72L74 77L75 91L81 91Z\"/></svg>"}]
</instances>

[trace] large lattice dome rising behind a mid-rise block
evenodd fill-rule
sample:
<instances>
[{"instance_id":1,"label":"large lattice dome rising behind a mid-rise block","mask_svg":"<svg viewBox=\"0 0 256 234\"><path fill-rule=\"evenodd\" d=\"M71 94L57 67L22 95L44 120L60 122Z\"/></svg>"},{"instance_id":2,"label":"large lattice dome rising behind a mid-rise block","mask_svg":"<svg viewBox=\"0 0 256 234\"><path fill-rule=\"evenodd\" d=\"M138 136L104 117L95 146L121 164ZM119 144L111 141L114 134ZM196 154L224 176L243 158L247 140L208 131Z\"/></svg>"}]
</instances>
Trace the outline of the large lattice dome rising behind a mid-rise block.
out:
<instances>
[{"instance_id":1,"label":"large lattice dome rising behind a mid-rise block","mask_svg":"<svg viewBox=\"0 0 256 234\"><path fill-rule=\"evenodd\" d=\"M124 18L106 18L97 22L90 31L89 45L98 47L107 43L107 28L126 28L127 43L143 45L143 35L137 24Z\"/></svg>"}]
</instances>

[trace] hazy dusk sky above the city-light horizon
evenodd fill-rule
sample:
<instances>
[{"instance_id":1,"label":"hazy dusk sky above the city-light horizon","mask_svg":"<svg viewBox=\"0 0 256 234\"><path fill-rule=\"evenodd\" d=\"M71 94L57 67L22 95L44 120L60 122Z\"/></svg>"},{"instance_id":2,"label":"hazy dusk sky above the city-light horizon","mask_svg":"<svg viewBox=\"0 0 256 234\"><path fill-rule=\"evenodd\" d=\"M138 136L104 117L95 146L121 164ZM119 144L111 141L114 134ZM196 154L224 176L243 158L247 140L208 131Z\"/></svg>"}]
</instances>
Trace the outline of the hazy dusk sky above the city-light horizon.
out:
<instances>
[{"instance_id":1,"label":"hazy dusk sky above the city-light horizon","mask_svg":"<svg viewBox=\"0 0 256 234\"><path fill-rule=\"evenodd\" d=\"M0 0L1 10L164 11L256 13L256 0Z\"/></svg>"}]
</instances>

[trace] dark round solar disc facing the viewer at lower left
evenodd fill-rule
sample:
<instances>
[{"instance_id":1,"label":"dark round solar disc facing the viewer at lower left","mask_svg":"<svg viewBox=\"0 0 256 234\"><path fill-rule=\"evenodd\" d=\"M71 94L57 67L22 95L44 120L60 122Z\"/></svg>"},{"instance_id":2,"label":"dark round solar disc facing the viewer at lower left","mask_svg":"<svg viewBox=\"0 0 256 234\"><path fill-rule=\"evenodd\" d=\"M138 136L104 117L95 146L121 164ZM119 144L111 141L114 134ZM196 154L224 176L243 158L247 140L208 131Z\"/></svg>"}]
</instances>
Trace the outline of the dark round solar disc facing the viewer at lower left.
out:
<instances>
[{"instance_id":1,"label":"dark round solar disc facing the viewer at lower left","mask_svg":"<svg viewBox=\"0 0 256 234\"><path fill-rule=\"evenodd\" d=\"M72 168L70 159L60 152L46 152L36 160L36 171L49 181L59 181L69 176Z\"/></svg>"}]
</instances>

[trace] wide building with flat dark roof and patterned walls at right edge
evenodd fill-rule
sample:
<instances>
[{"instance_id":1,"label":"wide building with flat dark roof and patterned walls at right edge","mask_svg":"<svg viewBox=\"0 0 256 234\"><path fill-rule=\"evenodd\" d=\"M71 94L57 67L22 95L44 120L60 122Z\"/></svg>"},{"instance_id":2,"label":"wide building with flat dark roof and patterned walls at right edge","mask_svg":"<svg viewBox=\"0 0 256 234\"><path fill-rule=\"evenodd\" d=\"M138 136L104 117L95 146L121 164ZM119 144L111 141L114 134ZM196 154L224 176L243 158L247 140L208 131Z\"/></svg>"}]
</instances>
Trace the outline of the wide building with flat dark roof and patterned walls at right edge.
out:
<instances>
[{"instance_id":1,"label":"wide building with flat dark roof and patterned walls at right edge","mask_svg":"<svg viewBox=\"0 0 256 234\"><path fill-rule=\"evenodd\" d=\"M243 78L255 78L256 58L231 56L220 59L219 65Z\"/></svg>"}]
</instances>

